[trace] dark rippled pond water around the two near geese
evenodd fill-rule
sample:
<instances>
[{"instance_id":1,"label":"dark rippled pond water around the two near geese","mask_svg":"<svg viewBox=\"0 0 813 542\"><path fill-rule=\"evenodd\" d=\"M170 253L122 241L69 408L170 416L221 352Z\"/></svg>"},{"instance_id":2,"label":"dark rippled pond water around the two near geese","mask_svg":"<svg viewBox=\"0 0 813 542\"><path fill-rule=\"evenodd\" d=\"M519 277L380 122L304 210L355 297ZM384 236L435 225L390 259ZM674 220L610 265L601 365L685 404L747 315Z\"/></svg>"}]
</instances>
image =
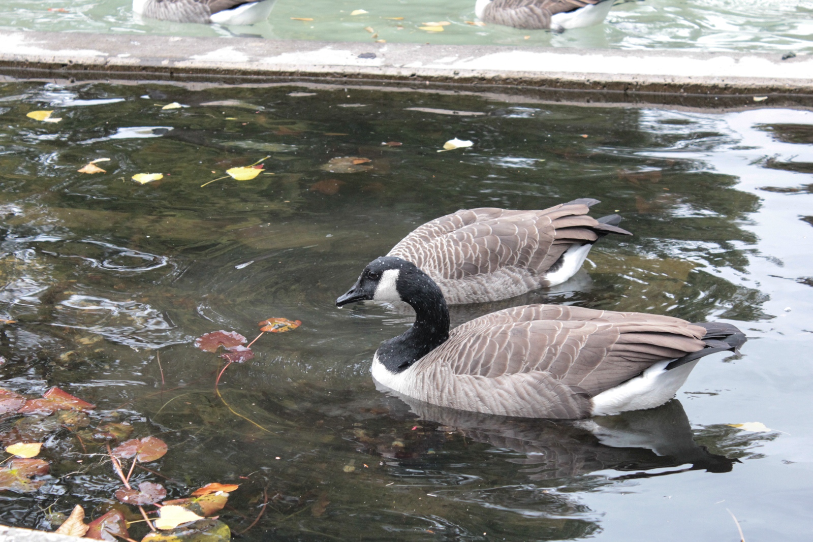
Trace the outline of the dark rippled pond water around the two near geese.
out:
<instances>
[{"instance_id":1,"label":"dark rippled pond water around the two near geese","mask_svg":"<svg viewBox=\"0 0 813 542\"><path fill-rule=\"evenodd\" d=\"M746 540L809 540L813 114L518 100L0 86L0 318L15 320L0 327L0 386L97 405L73 425L0 418L4 445L45 442L50 462L37 492L0 492L0 522L53 530L54 512L110 509L120 482L98 433L127 423L169 448L137 482L168 498L241 483L220 519L236 533L265 509L246 540L738 540L728 510ZM26 116L40 110L61 121ZM474 145L438 153L453 137ZM253 180L201 187L265 156ZM348 156L370 161L328 165ZM106 172L77 172L98 158ZM376 390L372 353L409 317L335 307L367 262L459 208L576 197L635 236L603 239L554 291L454 322L527 302L638 310L733 323L741 356L704 358L659 409L597 418L632 447L567 423L419 417ZM302 325L229 366L221 401L220 360L193 339L252 338L269 317ZM765 430L728 425L750 422Z\"/></svg>"}]
</instances>

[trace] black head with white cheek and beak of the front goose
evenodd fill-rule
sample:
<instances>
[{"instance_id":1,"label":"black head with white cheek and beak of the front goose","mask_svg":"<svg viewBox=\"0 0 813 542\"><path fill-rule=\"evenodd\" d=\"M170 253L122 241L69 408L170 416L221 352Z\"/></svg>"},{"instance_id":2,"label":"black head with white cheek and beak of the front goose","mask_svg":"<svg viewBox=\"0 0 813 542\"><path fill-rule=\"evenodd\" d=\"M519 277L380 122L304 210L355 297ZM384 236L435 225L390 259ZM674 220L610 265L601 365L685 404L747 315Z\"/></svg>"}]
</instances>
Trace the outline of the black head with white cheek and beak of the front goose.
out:
<instances>
[{"instance_id":1,"label":"black head with white cheek and beak of the front goose","mask_svg":"<svg viewBox=\"0 0 813 542\"><path fill-rule=\"evenodd\" d=\"M408 277L424 275L415 264L402 258L382 256L364 267L359 280L348 292L336 300L336 306L345 306L354 301L375 299L376 301L406 301L402 291L407 288ZM428 279L428 277L426 277Z\"/></svg>"}]
</instances>

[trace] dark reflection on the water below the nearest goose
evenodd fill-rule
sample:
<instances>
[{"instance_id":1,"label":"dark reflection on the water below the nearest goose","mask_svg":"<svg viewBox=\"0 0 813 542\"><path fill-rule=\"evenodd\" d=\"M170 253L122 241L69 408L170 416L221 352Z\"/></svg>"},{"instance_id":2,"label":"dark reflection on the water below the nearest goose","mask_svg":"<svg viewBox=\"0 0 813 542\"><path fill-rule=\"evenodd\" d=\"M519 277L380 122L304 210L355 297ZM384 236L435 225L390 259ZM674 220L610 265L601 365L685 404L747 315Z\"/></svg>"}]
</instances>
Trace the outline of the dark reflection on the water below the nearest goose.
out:
<instances>
[{"instance_id":1,"label":"dark reflection on the water below the nearest goose","mask_svg":"<svg viewBox=\"0 0 813 542\"><path fill-rule=\"evenodd\" d=\"M400 447L390 444L392 439L380 443L368 439L365 444L368 453L398 460L420 457L422 451L437 450L443 445L444 431L457 431L466 439L524 453L524 458L513 457L506 461L528 467L521 472L533 480L587 475L598 470L634 472L617 479L648 478L689 470L720 473L732 470L733 464L740 462L698 445L683 405L676 399L650 410L554 421L452 410L411 397L397 397L419 418L440 424L441 431L429 431L424 438L408 444L399 442L403 444ZM393 405L398 399L389 397L391 409L398 408ZM406 407L401 405L399 410ZM412 447L417 449L410 450ZM659 472L647 472L655 469Z\"/></svg>"}]
</instances>

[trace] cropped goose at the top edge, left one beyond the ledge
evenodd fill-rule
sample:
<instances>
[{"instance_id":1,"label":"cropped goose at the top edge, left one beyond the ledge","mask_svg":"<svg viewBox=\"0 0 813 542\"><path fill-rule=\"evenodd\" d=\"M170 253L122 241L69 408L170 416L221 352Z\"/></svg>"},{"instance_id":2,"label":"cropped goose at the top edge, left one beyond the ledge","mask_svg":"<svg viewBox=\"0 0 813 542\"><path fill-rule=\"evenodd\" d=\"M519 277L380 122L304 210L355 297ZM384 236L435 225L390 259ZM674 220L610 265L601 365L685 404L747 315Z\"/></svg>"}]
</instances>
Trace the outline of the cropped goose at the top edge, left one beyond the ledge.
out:
<instances>
[{"instance_id":1,"label":"cropped goose at the top edge, left one beyond the ledge","mask_svg":"<svg viewBox=\"0 0 813 542\"><path fill-rule=\"evenodd\" d=\"M133 0L133 12L176 23L254 24L268 18L276 0Z\"/></svg>"}]
</instances>

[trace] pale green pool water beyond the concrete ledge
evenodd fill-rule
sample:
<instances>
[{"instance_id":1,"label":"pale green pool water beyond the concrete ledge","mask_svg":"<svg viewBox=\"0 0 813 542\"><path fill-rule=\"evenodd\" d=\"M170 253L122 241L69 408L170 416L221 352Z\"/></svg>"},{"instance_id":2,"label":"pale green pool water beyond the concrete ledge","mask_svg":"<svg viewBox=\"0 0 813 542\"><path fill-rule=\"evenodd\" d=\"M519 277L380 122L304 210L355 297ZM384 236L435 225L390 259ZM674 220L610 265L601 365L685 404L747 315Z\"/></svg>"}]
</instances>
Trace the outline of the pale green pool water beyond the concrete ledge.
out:
<instances>
[{"instance_id":1,"label":"pale green pool water beyond the concrete ledge","mask_svg":"<svg viewBox=\"0 0 813 542\"><path fill-rule=\"evenodd\" d=\"M813 6L808 0L616 0L605 24L562 34L472 25L476 21L474 0L277 0L267 22L233 28L140 20L133 15L132 3L3 0L0 28L248 35L286 40L813 52ZM355 10L367 13L350 15ZM450 23L441 33L420 29L426 23L439 21Z\"/></svg>"}]
</instances>

